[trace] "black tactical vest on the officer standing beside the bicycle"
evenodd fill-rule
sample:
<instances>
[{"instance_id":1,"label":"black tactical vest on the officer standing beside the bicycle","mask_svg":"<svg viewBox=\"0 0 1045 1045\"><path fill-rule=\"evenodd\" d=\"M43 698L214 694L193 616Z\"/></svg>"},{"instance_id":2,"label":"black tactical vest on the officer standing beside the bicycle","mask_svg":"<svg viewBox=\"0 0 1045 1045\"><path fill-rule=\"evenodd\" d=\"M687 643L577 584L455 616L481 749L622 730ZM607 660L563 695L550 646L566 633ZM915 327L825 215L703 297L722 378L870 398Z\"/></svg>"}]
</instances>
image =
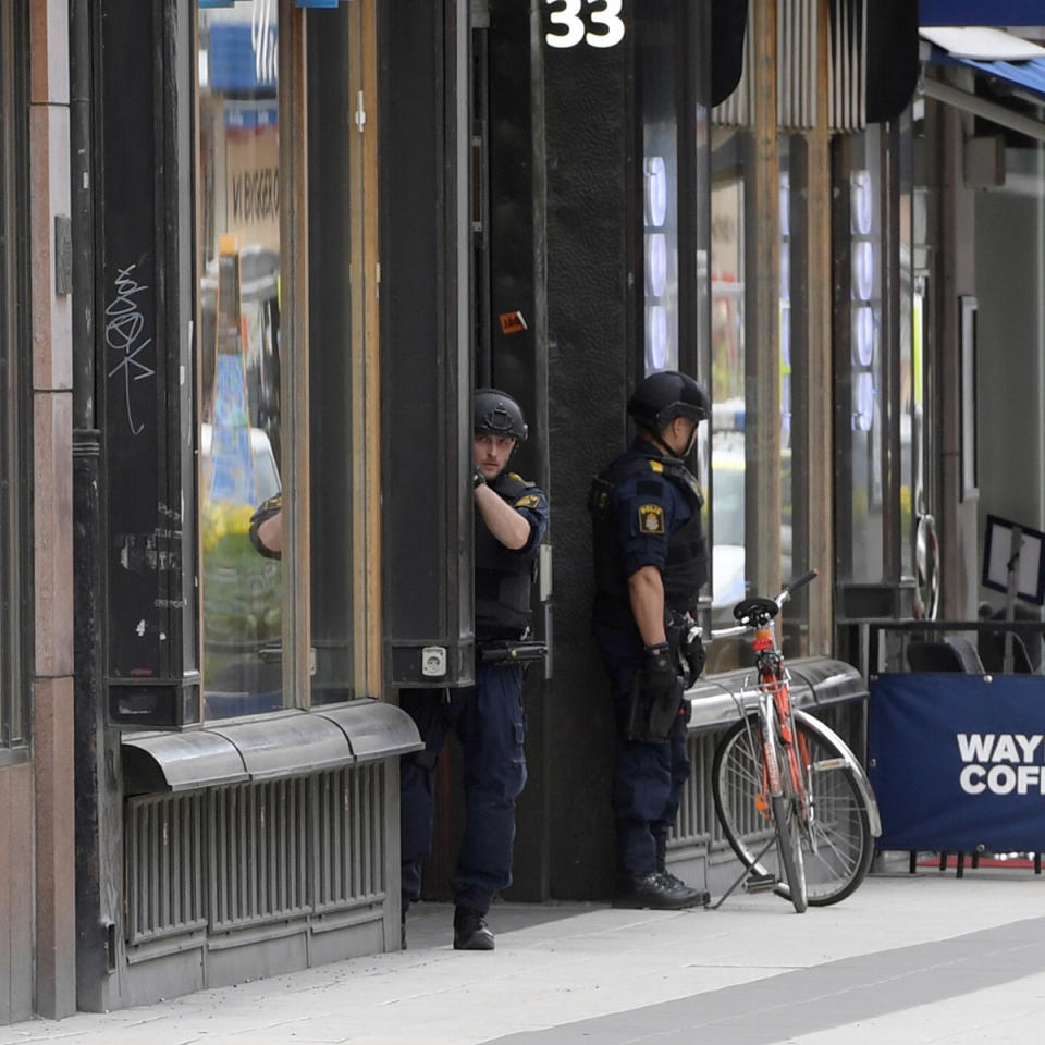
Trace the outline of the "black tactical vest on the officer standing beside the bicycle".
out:
<instances>
[{"instance_id":1,"label":"black tactical vest on the officer standing beside the bicycle","mask_svg":"<svg viewBox=\"0 0 1045 1045\"><path fill-rule=\"evenodd\" d=\"M660 468L654 468L651 462ZM637 628L631 615L628 579L624 574L624 556L610 501L620 482L639 472L660 475L673 482L681 490L692 509L686 522L668 538L667 560L661 571L665 610L694 612L697 593L708 580L708 545L700 521L703 497L689 469L675 457L632 457L611 465L592 481L588 499L594 543L594 618L625 631L635 631Z\"/></svg>"}]
</instances>

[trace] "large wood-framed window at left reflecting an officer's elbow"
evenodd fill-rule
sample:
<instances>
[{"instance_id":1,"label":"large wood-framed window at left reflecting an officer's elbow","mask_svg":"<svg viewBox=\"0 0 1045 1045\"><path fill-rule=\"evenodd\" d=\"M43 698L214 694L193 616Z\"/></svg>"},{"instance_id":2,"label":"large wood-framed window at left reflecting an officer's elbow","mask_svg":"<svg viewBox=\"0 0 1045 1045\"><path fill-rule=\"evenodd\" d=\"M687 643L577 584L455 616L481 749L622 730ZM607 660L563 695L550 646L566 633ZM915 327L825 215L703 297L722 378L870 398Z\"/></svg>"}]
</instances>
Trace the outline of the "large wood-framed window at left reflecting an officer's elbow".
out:
<instances>
[{"instance_id":1,"label":"large wood-framed window at left reflecting an officer's elbow","mask_svg":"<svg viewBox=\"0 0 1045 1045\"><path fill-rule=\"evenodd\" d=\"M210 718L380 691L373 10L198 12Z\"/></svg>"}]
</instances>

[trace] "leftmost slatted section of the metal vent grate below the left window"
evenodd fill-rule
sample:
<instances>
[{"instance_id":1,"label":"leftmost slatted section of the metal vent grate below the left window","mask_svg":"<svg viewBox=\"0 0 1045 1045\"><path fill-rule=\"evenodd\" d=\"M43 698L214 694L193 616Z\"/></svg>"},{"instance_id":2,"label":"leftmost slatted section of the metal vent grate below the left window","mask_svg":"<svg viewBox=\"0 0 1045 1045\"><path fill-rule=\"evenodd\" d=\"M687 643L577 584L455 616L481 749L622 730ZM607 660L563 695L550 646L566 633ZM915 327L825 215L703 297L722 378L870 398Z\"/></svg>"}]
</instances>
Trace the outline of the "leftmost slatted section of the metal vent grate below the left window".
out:
<instances>
[{"instance_id":1,"label":"leftmost slatted section of the metal vent grate below the left window","mask_svg":"<svg viewBox=\"0 0 1045 1045\"><path fill-rule=\"evenodd\" d=\"M204 929L202 796L131 799L125 829L128 942Z\"/></svg>"}]
</instances>

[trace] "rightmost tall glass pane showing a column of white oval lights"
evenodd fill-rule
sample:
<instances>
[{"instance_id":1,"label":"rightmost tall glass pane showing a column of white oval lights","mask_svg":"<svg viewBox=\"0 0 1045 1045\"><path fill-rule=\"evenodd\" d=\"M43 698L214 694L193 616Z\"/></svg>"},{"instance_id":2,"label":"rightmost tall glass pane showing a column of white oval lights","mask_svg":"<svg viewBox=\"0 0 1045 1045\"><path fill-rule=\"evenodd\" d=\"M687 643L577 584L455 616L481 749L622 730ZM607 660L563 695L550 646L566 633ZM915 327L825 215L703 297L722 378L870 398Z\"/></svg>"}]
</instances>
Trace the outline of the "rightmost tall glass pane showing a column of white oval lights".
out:
<instances>
[{"instance_id":1,"label":"rightmost tall glass pane showing a column of white oval lights","mask_svg":"<svg viewBox=\"0 0 1045 1045\"><path fill-rule=\"evenodd\" d=\"M834 143L841 619L914 610L915 521L933 511L924 465L931 410L920 325L925 287L912 268L911 149L909 111Z\"/></svg>"}]
</instances>

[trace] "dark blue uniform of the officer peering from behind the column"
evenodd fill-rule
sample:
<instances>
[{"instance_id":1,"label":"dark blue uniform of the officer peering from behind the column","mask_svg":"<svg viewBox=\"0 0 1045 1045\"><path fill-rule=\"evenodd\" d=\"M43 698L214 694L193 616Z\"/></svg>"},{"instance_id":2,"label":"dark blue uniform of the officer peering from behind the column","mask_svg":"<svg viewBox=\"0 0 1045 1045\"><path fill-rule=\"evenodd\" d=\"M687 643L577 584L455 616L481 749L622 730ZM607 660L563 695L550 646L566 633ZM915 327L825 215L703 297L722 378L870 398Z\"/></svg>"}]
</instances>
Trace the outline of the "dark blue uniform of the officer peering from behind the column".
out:
<instances>
[{"instance_id":1,"label":"dark blue uniform of the officer peering from behind the column","mask_svg":"<svg viewBox=\"0 0 1045 1045\"><path fill-rule=\"evenodd\" d=\"M490 488L530 524L526 544L505 548L476 512L476 641L517 640L530 620L532 564L548 527L548 499L532 483L502 474ZM477 660L479 657L477 656ZM460 689L403 690L401 706L425 741L401 764L402 890L404 910L420 897L421 862L432 848L435 762L451 729L460 741L465 834L453 876L454 902L485 914L494 895L512 884L515 800L526 784L522 742L522 667L476 666L476 684Z\"/></svg>"}]
</instances>

